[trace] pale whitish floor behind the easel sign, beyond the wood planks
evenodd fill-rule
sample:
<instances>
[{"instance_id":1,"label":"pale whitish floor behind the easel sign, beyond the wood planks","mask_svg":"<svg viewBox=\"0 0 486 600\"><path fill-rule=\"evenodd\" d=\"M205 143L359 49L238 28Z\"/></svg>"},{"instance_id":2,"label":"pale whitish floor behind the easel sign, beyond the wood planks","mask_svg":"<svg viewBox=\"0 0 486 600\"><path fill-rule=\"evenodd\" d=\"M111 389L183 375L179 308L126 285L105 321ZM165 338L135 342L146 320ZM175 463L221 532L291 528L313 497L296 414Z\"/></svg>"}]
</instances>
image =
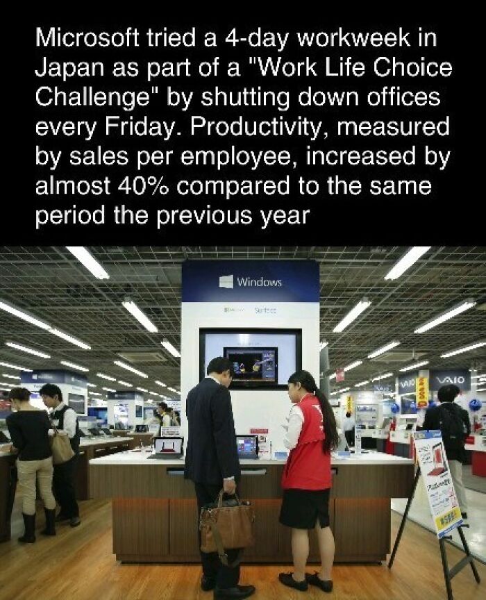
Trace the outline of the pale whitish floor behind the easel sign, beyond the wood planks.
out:
<instances>
[{"instance_id":1,"label":"pale whitish floor behind the easel sign, beyond the wood planks","mask_svg":"<svg viewBox=\"0 0 486 600\"><path fill-rule=\"evenodd\" d=\"M476 556L478 560L486 563L486 494L467 489L466 497L469 505L467 510L469 528L464 527L464 535L471 554ZM399 515L403 515L406 504L406 499L393 499L392 510L395 510ZM428 506L424 480L422 478L419 479L419 483L417 484L417 490L415 491L408 516L411 521L435 532L432 515ZM453 542L462 548L457 531L453 532L452 537Z\"/></svg>"}]
</instances>

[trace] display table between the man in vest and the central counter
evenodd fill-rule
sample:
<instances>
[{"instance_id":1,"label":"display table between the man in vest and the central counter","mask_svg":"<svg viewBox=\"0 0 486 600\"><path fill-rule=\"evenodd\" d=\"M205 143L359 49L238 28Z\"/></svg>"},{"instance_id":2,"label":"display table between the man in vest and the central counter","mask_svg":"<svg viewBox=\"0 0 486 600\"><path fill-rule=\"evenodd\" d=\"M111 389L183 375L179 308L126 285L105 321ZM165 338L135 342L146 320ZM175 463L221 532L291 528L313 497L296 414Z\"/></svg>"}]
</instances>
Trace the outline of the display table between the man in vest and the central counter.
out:
<instances>
[{"instance_id":1,"label":"display table between the man in vest and the central counter","mask_svg":"<svg viewBox=\"0 0 486 600\"><path fill-rule=\"evenodd\" d=\"M117 452L123 452L134 447L133 437L118 437L106 435L106 437L81 437L79 442L78 468L76 472L76 499L90 499L90 468L92 458L110 456Z\"/></svg>"}]
</instances>

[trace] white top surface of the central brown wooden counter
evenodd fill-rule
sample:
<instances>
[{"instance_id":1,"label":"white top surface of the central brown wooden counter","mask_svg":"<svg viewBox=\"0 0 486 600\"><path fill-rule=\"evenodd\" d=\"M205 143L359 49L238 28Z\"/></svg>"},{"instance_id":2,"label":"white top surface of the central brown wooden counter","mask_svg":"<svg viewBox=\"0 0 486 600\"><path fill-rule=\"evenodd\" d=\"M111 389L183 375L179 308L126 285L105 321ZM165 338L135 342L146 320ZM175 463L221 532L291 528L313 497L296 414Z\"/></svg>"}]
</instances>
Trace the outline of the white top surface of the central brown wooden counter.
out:
<instances>
[{"instance_id":1,"label":"white top surface of the central brown wooden counter","mask_svg":"<svg viewBox=\"0 0 486 600\"><path fill-rule=\"evenodd\" d=\"M110 456L101 456L100 458L92 458L90 465L162 465L165 467L184 467L184 459L149 459L149 452L138 452L128 450L119 452ZM382 452L366 452L359 456L337 456L331 458L331 465L412 465L411 458L401 458L401 456L392 456ZM285 460L241 460L242 467L267 467L270 465L285 465Z\"/></svg>"}]
</instances>

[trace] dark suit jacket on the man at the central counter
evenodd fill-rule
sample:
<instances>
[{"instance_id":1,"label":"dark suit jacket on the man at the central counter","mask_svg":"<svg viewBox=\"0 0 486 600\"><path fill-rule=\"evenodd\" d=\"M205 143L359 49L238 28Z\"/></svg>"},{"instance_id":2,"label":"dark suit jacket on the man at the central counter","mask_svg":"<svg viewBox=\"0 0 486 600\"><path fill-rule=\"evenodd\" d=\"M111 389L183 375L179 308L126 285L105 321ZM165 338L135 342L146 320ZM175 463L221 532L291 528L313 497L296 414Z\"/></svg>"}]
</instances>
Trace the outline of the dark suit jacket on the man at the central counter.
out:
<instances>
[{"instance_id":1,"label":"dark suit jacket on the man at the central counter","mask_svg":"<svg viewBox=\"0 0 486 600\"><path fill-rule=\"evenodd\" d=\"M187 395L185 412L189 422L185 478L221 487L224 478L234 476L239 481L240 461L228 389L212 378L204 378Z\"/></svg>"}]
</instances>

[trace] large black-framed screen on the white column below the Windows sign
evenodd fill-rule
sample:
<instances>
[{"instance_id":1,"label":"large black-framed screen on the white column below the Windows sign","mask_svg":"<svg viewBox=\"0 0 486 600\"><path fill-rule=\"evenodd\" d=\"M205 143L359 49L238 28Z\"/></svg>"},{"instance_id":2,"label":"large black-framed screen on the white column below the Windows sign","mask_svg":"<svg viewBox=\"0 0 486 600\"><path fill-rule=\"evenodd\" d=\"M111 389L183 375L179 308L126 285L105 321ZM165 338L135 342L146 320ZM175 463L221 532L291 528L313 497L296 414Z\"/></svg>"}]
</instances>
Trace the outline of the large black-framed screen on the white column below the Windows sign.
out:
<instances>
[{"instance_id":1,"label":"large black-framed screen on the white column below the Windows sign","mask_svg":"<svg viewBox=\"0 0 486 600\"><path fill-rule=\"evenodd\" d=\"M286 389L301 369L301 351L301 329L201 329L200 378L212 358L224 356L235 370L230 389Z\"/></svg>"}]
</instances>

